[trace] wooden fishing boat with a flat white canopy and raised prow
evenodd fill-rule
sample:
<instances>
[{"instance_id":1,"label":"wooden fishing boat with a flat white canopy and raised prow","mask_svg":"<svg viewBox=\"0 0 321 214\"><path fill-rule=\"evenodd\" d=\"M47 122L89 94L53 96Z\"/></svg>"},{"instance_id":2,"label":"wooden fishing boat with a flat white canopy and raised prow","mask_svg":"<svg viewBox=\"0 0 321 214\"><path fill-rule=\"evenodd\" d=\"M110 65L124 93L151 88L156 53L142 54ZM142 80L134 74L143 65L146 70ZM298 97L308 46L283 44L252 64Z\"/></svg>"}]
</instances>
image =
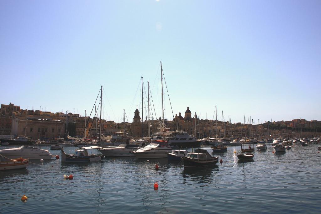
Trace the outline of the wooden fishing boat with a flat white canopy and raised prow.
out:
<instances>
[{"instance_id":1,"label":"wooden fishing boat with a flat white canopy and raised prow","mask_svg":"<svg viewBox=\"0 0 321 214\"><path fill-rule=\"evenodd\" d=\"M101 161L104 157L102 154L88 154L88 150L92 149L102 149L99 146L88 146L82 147L80 149L75 150L73 155L68 155L65 153L64 149L61 150L61 162L93 162L93 161Z\"/></svg>"}]
</instances>

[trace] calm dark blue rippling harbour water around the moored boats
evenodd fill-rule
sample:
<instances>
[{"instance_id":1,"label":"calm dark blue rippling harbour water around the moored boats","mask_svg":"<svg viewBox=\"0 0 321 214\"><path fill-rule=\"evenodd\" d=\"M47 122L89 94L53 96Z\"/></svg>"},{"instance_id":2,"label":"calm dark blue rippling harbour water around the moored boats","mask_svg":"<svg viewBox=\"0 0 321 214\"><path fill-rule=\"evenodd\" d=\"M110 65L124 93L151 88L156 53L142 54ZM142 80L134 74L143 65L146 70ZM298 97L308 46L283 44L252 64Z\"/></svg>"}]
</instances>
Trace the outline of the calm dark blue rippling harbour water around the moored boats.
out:
<instances>
[{"instance_id":1,"label":"calm dark blue rippling harbour water around the moored boats","mask_svg":"<svg viewBox=\"0 0 321 214\"><path fill-rule=\"evenodd\" d=\"M240 147L229 147L217 154L222 165L193 171L164 158L89 164L31 160L26 169L0 171L0 213L320 213L317 146L293 145L277 154L268 145L247 163L238 163L233 152ZM74 179L64 180L64 174Z\"/></svg>"}]
</instances>

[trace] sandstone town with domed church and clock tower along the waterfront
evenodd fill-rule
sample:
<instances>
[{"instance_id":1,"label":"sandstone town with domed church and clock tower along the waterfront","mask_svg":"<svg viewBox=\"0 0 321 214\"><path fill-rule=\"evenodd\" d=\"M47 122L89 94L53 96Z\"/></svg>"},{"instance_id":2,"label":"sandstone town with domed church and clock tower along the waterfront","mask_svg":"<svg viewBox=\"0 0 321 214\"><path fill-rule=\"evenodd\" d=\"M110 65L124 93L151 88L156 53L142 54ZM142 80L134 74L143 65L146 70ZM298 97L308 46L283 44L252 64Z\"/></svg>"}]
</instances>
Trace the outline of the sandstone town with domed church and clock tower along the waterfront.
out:
<instances>
[{"instance_id":1,"label":"sandstone town with domed church and clock tower along the waterfront","mask_svg":"<svg viewBox=\"0 0 321 214\"><path fill-rule=\"evenodd\" d=\"M101 120L97 117L89 118L79 114L40 110L22 110L13 103L1 104L0 135L22 135L36 139L56 139L86 136L97 138L99 133L111 135L116 132L126 131L128 136L141 137L156 133L161 118L158 120L147 119L142 123L140 112L136 108L132 123ZM247 122L251 122L250 120ZM294 119L291 121L267 121L260 124L232 124L230 121L217 121L199 119L187 107L184 116L181 112L173 120L164 120L170 131L181 130L201 139L204 137L240 139L246 135L248 138L275 138L290 137L315 137L321 131L321 121ZM148 124L150 129L148 129ZM149 131L150 130L150 131Z\"/></svg>"}]
</instances>

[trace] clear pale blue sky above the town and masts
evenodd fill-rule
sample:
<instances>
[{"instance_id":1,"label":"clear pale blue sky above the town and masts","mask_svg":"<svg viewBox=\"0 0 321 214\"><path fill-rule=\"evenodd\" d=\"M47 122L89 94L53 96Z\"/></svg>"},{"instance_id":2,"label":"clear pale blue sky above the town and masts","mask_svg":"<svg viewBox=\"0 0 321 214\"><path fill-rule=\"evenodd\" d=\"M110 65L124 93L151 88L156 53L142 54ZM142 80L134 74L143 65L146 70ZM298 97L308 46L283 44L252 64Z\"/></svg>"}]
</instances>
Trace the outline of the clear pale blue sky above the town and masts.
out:
<instances>
[{"instance_id":1,"label":"clear pale blue sky above the town and masts","mask_svg":"<svg viewBox=\"0 0 321 214\"><path fill-rule=\"evenodd\" d=\"M217 105L232 123L321 120L320 11L318 0L3 0L0 102L88 116L102 85L102 118L122 122L125 109L131 122L136 107L146 119L149 81L159 118L162 61L165 119L187 106L215 119Z\"/></svg>"}]
</instances>

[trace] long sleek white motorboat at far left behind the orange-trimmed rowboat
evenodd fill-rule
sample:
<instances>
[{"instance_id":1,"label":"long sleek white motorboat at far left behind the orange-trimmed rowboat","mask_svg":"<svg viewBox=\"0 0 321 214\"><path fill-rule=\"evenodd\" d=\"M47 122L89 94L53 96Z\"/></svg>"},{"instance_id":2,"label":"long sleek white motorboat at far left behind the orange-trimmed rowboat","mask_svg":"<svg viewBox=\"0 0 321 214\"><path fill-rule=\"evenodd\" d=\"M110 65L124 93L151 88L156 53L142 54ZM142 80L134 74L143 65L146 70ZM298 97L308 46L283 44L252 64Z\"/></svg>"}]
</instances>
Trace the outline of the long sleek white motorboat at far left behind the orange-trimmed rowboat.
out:
<instances>
[{"instance_id":1,"label":"long sleek white motorboat at far left behind the orange-trimmed rowboat","mask_svg":"<svg viewBox=\"0 0 321 214\"><path fill-rule=\"evenodd\" d=\"M48 150L42 150L31 146L21 146L19 148L0 150L0 154L10 158L24 158L24 159L51 159L55 156L51 155Z\"/></svg>"}]
</instances>

